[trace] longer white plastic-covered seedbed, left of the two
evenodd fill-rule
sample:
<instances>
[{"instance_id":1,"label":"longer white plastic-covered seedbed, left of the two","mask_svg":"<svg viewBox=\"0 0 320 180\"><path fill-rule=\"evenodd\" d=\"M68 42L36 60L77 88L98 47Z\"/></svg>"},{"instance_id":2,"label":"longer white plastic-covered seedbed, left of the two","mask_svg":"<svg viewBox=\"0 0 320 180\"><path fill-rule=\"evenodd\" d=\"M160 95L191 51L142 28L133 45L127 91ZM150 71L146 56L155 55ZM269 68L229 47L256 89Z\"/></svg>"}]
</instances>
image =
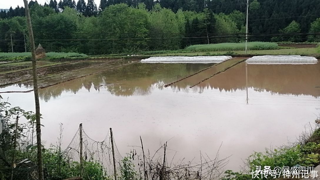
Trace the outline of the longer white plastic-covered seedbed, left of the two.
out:
<instances>
[{"instance_id":1,"label":"longer white plastic-covered seedbed, left of the two","mask_svg":"<svg viewBox=\"0 0 320 180\"><path fill-rule=\"evenodd\" d=\"M219 63L228 59L231 56L164 56L164 57L150 57L142 59L142 63Z\"/></svg>"}]
</instances>

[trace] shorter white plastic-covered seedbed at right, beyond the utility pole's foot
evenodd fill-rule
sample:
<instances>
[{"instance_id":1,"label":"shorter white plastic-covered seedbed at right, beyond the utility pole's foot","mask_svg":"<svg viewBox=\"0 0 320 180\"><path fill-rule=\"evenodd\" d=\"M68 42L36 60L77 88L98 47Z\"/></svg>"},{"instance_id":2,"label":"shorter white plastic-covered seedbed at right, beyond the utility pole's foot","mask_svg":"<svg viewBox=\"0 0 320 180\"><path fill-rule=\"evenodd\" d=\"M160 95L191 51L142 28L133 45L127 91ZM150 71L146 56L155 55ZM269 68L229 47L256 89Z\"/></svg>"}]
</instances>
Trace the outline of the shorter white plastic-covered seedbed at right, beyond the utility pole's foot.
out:
<instances>
[{"instance_id":1,"label":"shorter white plastic-covered seedbed at right, beyond the utility pole's foot","mask_svg":"<svg viewBox=\"0 0 320 180\"><path fill-rule=\"evenodd\" d=\"M245 62L248 64L316 64L315 57L291 55L291 56L253 56Z\"/></svg>"}]
</instances>

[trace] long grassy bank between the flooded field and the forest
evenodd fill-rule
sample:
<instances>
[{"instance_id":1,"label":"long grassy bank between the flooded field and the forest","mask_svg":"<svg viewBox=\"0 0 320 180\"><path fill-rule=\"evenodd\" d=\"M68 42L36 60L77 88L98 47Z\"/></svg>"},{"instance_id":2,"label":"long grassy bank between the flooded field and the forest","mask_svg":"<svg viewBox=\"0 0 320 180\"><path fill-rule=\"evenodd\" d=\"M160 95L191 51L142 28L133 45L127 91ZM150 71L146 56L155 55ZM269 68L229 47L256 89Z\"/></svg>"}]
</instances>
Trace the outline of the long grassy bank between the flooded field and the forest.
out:
<instances>
[{"instance_id":1,"label":"long grassy bank between the flooded field and the forest","mask_svg":"<svg viewBox=\"0 0 320 180\"><path fill-rule=\"evenodd\" d=\"M79 54L79 53L56 53L56 52L48 52L47 57L41 60L48 60L48 61L54 61L54 60L86 60L86 59L145 59L152 56L203 56L203 55L211 55L211 56L221 56L221 55L228 55L233 57L250 57L255 55L302 55L302 56L314 56L317 59L320 59L320 46L316 48L285 48L285 49L272 49L274 46L274 43L266 44L265 46L270 46L271 49L264 49L267 47L262 47L259 50L257 47L257 43L261 42L251 42L256 43L255 48L249 48L247 53L245 53L243 47L231 47L231 49L234 50L228 50L227 47L220 46L219 48L209 48L206 47L205 50L201 49L181 49L181 50L160 50L160 51L140 51L136 52L134 54L132 53L121 53L121 54L108 54L108 55L91 55L87 56L85 54ZM228 46L232 43L221 43L221 44L228 44ZM220 44L220 45L221 45ZM234 44L240 44L240 43L234 43ZM211 44L211 45L217 45L217 44ZM210 45L210 46L211 46ZM276 44L277 45L277 44ZM195 45L196 46L196 45ZM205 47L205 46L204 46ZM202 47L199 47L202 48ZM228 50L228 51L227 51ZM10 57L9 57L10 54ZM28 53L27 53L28 54ZM14 56L16 55L16 56ZM29 56L22 56L25 54L16 54L16 53L1 53L0 52L0 61L11 61L11 62L19 62L24 60L30 60ZM4 57L6 56L6 57ZM31 56L30 56L31 57ZM41 61L40 60L40 61Z\"/></svg>"}]
</instances>

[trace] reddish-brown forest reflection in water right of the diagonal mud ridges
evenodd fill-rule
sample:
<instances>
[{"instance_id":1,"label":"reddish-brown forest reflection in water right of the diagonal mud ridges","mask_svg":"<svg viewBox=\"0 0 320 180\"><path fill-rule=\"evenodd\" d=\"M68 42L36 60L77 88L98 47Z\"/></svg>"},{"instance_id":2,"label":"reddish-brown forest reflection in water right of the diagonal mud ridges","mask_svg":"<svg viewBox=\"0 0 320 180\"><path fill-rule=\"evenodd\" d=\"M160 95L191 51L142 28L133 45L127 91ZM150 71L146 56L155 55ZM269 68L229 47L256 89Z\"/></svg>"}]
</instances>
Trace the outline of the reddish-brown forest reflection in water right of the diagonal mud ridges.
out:
<instances>
[{"instance_id":1,"label":"reddish-brown forest reflection in water right of the diagonal mud ridges","mask_svg":"<svg viewBox=\"0 0 320 180\"><path fill-rule=\"evenodd\" d=\"M255 91L320 97L320 64L248 65L248 87ZM220 91L245 90L245 63L198 85Z\"/></svg>"}]
</instances>

